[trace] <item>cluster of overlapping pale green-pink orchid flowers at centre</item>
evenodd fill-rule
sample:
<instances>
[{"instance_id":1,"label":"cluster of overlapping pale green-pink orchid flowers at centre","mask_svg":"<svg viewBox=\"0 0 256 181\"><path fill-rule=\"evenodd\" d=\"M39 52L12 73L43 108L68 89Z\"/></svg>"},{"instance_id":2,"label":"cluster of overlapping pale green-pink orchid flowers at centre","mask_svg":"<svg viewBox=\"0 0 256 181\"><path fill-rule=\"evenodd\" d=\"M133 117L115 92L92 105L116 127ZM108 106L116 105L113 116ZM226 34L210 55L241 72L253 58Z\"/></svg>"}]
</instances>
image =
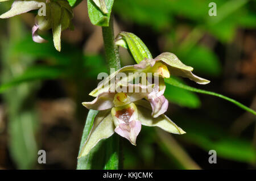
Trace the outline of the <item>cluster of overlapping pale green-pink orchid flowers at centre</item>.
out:
<instances>
[{"instance_id":1,"label":"cluster of overlapping pale green-pink orchid flowers at centre","mask_svg":"<svg viewBox=\"0 0 256 181\"><path fill-rule=\"evenodd\" d=\"M136 145L142 125L184 134L183 129L164 115L168 108L168 100L163 95L166 89L164 78L178 75L200 84L209 83L207 79L194 75L192 70L192 67L184 65L175 54L166 52L154 59L145 58L139 64L125 66L110 74L90 92L89 95L96 98L92 102L82 103L86 108L100 112L94 119L92 131L79 157L88 154L98 141L112 136L114 132ZM117 79L119 73L127 76ZM133 73L132 76L130 73ZM139 76L142 73L146 81ZM148 73L152 74L154 81ZM148 112L151 112L151 115Z\"/></svg>"}]
</instances>

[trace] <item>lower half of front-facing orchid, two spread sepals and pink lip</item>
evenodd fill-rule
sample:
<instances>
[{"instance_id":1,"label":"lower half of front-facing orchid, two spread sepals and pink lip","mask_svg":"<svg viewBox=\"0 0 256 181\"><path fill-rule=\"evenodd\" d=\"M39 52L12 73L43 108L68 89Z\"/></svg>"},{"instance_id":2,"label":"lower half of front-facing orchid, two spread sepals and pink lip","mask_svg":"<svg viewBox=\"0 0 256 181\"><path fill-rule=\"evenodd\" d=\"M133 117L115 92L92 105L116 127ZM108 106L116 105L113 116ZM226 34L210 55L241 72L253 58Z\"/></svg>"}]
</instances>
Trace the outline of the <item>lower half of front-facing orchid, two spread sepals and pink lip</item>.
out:
<instances>
[{"instance_id":1,"label":"lower half of front-facing orchid, two spread sepals and pink lip","mask_svg":"<svg viewBox=\"0 0 256 181\"><path fill-rule=\"evenodd\" d=\"M100 111L94 118L92 130L82 147L79 158L87 155L99 141L109 138L114 133L125 137L131 144L136 145L141 125L159 127L174 134L185 133L164 114L152 117L148 114L150 110L151 106L146 100L138 100L125 106Z\"/></svg>"}]
</instances>

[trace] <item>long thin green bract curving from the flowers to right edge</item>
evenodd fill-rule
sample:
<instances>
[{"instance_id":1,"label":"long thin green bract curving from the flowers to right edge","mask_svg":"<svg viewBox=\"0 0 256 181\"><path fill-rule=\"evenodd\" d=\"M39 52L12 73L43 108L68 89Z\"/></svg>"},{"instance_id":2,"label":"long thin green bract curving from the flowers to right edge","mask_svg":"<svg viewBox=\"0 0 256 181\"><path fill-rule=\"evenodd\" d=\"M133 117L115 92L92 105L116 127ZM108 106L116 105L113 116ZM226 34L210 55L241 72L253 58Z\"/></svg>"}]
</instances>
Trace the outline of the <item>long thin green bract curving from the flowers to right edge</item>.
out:
<instances>
[{"instance_id":1,"label":"long thin green bract curving from the flowers to right edge","mask_svg":"<svg viewBox=\"0 0 256 181\"><path fill-rule=\"evenodd\" d=\"M241 104L240 102L237 102L234 99L228 98L228 97L226 97L224 95L217 94L215 92L210 92L210 91L205 91L205 90L201 90L201 89L196 89L194 87L190 87L190 86L184 85L183 83L178 82L174 78L164 79L164 81L166 83L169 83L172 86L179 87L181 89L185 89L185 90L189 90L189 91L193 91L193 92L198 92L198 93L201 93L201 94L209 94L209 95L217 96L219 98L228 100L229 102L232 102L233 104L236 104L238 107L242 108L243 110L248 111L248 112L253 113L254 115L256 115L256 112L254 110L252 110L251 108Z\"/></svg>"}]
</instances>

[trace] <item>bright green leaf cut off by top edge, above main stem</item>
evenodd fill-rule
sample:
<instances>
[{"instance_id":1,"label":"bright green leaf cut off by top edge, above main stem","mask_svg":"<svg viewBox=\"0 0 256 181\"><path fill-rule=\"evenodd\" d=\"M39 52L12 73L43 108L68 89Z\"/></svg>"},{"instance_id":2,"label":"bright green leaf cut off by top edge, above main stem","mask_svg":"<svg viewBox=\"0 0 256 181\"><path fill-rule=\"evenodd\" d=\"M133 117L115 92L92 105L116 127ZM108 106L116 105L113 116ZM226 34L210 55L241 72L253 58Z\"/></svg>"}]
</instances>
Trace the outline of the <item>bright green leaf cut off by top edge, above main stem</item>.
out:
<instances>
[{"instance_id":1,"label":"bright green leaf cut off by top edge, above main stem","mask_svg":"<svg viewBox=\"0 0 256 181\"><path fill-rule=\"evenodd\" d=\"M93 0L88 0L87 3L90 22L97 26L108 27L114 0L105 0L106 9L108 10L108 13L106 14L100 10Z\"/></svg>"}]
</instances>

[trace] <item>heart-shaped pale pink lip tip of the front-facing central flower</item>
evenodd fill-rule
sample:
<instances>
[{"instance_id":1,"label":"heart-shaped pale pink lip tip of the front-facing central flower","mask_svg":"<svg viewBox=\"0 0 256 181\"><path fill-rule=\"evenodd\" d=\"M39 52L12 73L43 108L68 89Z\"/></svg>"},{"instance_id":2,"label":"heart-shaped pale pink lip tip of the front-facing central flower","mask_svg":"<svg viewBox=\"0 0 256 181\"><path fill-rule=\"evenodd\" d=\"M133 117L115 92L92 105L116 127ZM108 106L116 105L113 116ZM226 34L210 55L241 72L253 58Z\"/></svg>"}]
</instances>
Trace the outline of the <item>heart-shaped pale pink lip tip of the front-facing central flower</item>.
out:
<instances>
[{"instance_id":1,"label":"heart-shaped pale pink lip tip of the front-facing central flower","mask_svg":"<svg viewBox=\"0 0 256 181\"><path fill-rule=\"evenodd\" d=\"M131 144L136 146L136 138L141 132L141 121L133 120L128 124L121 123L118 127L115 128L115 133L119 134L122 137L125 137L131 142Z\"/></svg>"}]
</instances>

